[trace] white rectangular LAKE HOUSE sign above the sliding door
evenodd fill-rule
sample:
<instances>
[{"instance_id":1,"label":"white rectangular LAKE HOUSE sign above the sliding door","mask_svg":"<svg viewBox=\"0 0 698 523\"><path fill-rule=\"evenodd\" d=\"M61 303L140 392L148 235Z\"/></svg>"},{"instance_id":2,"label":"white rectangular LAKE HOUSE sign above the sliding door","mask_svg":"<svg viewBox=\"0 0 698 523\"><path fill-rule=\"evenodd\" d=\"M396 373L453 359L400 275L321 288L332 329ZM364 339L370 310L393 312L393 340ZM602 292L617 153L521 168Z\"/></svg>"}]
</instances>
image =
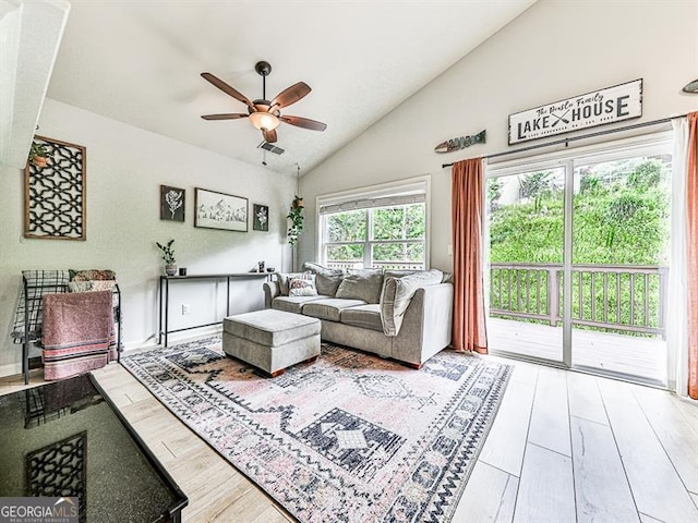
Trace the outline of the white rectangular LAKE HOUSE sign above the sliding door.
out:
<instances>
[{"instance_id":1,"label":"white rectangular LAKE HOUSE sign above the sliding door","mask_svg":"<svg viewBox=\"0 0 698 523\"><path fill-rule=\"evenodd\" d=\"M642 78L509 114L509 145L642 115Z\"/></svg>"}]
</instances>

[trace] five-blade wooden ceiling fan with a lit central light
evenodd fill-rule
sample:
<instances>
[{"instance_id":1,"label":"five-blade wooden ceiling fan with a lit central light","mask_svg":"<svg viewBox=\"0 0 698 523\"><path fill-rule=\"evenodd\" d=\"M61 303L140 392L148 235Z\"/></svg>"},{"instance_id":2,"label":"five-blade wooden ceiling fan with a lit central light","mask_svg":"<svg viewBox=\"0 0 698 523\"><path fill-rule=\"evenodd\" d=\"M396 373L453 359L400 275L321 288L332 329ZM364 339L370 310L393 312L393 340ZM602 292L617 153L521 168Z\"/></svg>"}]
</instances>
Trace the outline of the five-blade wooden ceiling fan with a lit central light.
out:
<instances>
[{"instance_id":1,"label":"five-blade wooden ceiling fan with a lit central light","mask_svg":"<svg viewBox=\"0 0 698 523\"><path fill-rule=\"evenodd\" d=\"M220 90L248 106L246 114L244 112L230 112L225 114L204 114L201 118L204 120L238 120L240 118L246 118L250 120L252 125L262 131L264 139L270 144L276 142L276 127L278 127L281 122L296 125L297 127L310 129L312 131L324 131L327 129L326 124L316 122L309 118L281 114L280 109L288 107L291 104L296 104L311 92L311 88L306 83L299 82L293 84L269 101L266 99L266 77L272 72L272 65L264 61L257 62L254 65L254 70L262 76L262 98L252 101L250 101L250 98L213 74L201 73L205 80L210 82Z\"/></svg>"}]
</instances>

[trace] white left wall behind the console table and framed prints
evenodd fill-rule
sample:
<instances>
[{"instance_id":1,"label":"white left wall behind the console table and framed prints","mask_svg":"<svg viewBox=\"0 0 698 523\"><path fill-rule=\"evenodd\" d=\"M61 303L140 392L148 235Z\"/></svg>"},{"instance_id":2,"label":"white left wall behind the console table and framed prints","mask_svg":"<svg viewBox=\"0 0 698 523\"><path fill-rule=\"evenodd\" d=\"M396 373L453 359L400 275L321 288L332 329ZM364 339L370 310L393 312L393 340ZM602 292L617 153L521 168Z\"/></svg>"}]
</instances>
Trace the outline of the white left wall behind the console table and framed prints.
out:
<instances>
[{"instance_id":1,"label":"white left wall behind the console table and framed prints","mask_svg":"<svg viewBox=\"0 0 698 523\"><path fill-rule=\"evenodd\" d=\"M290 268L286 214L296 180L47 99L38 134L86 147L87 240L28 240L23 232L24 173L0 172L0 376L19 372L21 345L9 332L23 269L110 268L123 293L124 341L153 342L157 281L163 262L155 242L174 239L177 262L189 273L244 272L258 260ZM159 219L160 184L186 190L184 223ZM194 190L209 188L269 206L269 232L197 229ZM231 313L263 306L262 280L233 284ZM181 304L191 315L181 315ZM216 321L225 285L172 285L171 328Z\"/></svg>"}]
</instances>

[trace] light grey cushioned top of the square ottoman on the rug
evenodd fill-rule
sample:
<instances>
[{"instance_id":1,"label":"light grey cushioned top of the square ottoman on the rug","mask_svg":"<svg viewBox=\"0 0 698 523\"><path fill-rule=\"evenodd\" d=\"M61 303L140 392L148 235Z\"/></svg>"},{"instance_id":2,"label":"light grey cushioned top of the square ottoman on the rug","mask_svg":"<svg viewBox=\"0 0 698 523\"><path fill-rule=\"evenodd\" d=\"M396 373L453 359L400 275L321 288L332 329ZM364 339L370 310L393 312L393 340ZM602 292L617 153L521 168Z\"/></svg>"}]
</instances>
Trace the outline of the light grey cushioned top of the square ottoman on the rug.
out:
<instances>
[{"instance_id":1,"label":"light grey cushioned top of the square ottoman on the rug","mask_svg":"<svg viewBox=\"0 0 698 523\"><path fill-rule=\"evenodd\" d=\"M320 321L300 314L266 308L222 320L222 330L264 346L279 346L320 335Z\"/></svg>"}]
</instances>

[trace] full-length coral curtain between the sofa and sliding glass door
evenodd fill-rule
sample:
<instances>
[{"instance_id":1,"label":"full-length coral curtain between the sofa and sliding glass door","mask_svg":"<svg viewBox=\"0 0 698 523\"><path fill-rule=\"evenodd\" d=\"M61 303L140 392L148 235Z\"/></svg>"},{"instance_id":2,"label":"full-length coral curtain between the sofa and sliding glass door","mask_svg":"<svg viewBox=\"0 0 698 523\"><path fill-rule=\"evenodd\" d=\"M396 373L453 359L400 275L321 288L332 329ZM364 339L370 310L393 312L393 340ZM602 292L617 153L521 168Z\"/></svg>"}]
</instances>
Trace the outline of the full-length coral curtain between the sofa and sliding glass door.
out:
<instances>
[{"instance_id":1,"label":"full-length coral curtain between the sofa and sliding glass door","mask_svg":"<svg viewBox=\"0 0 698 523\"><path fill-rule=\"evenodd\" d=\"M488 352L482 283L482 159L454 163L454 340L457 351Z\"/></svg>"}]
</instances>

